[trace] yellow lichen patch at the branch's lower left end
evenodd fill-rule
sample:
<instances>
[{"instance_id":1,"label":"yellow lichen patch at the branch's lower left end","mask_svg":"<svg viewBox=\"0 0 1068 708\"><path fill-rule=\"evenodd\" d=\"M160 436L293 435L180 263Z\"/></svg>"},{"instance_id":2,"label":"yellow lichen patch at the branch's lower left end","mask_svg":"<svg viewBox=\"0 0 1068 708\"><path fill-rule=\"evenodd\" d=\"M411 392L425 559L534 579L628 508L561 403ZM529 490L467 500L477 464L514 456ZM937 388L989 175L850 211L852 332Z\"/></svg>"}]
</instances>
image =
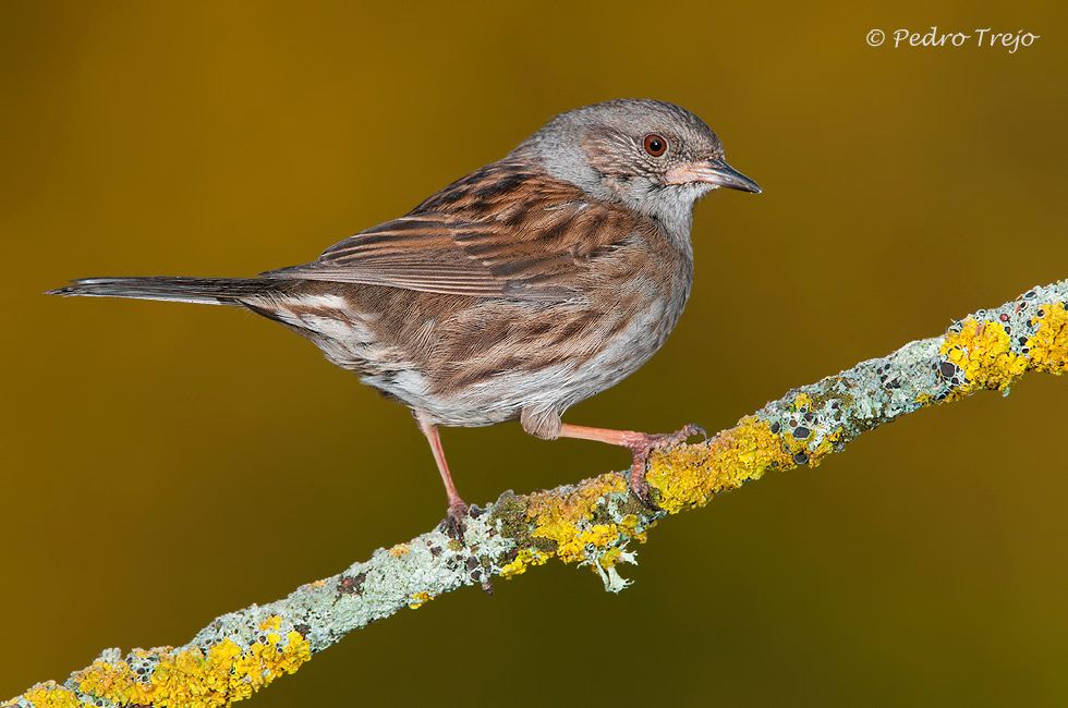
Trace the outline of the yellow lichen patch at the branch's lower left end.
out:
<instances>
[{"instance_id":1,"label":"yellow lichen patch at the branch's lower left end","mask_svg":"<svg viewBox=\"0 0 1068 708\"><path fill-rule=\"evenodd\" d=\"M277 620L277 621L276 621ZM263 630L277 628L280 618L269 618ZM282 673L293 673L312 658L312 646L299 632L282 636L270 632L265 642L255 642L246 649L223 639L207 650L199 647L174 650L160 647L134 652L135 660L148 661L156 668L148 681L126 661L109 663L95 661L88 669L73 675L78 689L118 704L153 706L189 706L211 708L228 706L247 698Z\"/></svg>"}]
</instances>

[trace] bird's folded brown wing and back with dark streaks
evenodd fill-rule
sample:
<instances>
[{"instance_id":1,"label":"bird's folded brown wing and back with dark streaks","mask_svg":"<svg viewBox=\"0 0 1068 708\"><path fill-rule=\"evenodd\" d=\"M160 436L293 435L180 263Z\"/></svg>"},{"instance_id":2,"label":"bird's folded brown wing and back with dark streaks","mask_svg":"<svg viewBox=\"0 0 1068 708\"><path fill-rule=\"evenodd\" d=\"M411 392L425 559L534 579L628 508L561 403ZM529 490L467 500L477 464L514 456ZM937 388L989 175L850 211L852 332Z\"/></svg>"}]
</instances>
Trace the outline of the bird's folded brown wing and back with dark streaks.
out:
<instances>
[{"instance_id":1,"label":"bird's folded brown wing and back with dark streaks","mask_svg":"<svg viewBox=\"0 0 1068 708\"><path fill-rule=\"evenodd\" d=\"M562 301L630 240L636 217L545 176L489 166L411 213L262 273L475 297Z\"/></svg>"}]
</instances>

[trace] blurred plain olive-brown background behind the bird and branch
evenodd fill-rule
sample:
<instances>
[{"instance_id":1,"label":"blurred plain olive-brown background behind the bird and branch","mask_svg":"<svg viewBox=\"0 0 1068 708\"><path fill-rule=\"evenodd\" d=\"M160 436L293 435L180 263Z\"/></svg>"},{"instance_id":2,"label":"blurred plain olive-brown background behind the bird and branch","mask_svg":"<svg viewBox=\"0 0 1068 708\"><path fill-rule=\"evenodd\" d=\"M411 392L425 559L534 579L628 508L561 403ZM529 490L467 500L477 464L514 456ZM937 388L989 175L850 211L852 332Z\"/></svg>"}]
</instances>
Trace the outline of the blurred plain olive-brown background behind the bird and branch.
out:
<instances>
[{"instance_id":1,"label":"blurred plain olive-brown background behind the bird and branch","mask_svg":"<svg viewBox=\"0 0 1068 708\"><path fill-rule=\"evenodd\" d=\"M681 324L571 423L719 430L1068 278L1063 3L0 13L0 698L184 644L445 510L409 412L310 343L231 308L41 295L71 278L304 263L618 97L693 110L765 192L699 205ZM890 46L932 25L973 36ZM1041 37L976 47L986 27ZM618 597L557 563L463 589L254 705L1064 705L1066 410L1068 379L1031 375L909 416L662 523ZM517 424L442 438L476 503L628 464Z\"/></svg>"}]
</instances>

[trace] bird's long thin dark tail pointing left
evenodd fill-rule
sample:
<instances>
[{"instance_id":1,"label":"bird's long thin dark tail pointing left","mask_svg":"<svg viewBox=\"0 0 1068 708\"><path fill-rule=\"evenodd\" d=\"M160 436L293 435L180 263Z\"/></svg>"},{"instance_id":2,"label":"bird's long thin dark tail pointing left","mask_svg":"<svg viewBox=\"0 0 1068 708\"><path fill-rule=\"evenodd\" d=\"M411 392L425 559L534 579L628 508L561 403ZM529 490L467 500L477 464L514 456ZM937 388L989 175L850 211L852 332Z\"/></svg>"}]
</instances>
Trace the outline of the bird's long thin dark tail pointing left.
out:
<instances>
[{"instance_id":1,"label":"bird's long thin dark tail pointing left","mask_svg":"<svg viewBox=\"0 0 1068 708\"><path fill-rule=\"evenodd\" d=\"M50 290L46 295L88 297L133 297L166 300L206 305L242 305L242 298L276 291L278 282L263 278L86 278L71 285Z\"/></svg>"}]
</instances>

